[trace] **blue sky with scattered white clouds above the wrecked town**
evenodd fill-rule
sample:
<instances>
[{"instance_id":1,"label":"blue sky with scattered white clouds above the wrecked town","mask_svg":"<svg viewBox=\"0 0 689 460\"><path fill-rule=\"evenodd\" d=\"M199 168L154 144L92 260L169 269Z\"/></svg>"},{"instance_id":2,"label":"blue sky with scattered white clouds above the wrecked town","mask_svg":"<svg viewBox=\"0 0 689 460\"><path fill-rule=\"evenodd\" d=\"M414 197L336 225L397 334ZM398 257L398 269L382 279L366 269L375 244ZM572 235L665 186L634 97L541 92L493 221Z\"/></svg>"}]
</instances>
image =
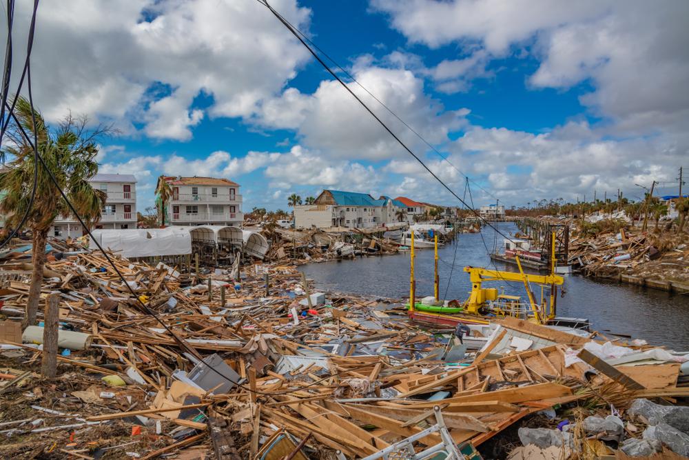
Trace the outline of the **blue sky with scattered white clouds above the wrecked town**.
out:
<instances>
[{"instance_id":1,"label":"blue sky with scattered white clouds above the wrecked town","mask_svg":"<svg viewBox=\"0 0 689 460\"><path fill-rule=\"evenodd\" d=\"M476 206L677 193L689 166L687 1L270 3ZM136 176L139 210L160 174L232 179L245 211L324 188L460 205L257 0L41 0L31 69L49 124L118 130L100 170Z\"/></svg>"}]
</instances>

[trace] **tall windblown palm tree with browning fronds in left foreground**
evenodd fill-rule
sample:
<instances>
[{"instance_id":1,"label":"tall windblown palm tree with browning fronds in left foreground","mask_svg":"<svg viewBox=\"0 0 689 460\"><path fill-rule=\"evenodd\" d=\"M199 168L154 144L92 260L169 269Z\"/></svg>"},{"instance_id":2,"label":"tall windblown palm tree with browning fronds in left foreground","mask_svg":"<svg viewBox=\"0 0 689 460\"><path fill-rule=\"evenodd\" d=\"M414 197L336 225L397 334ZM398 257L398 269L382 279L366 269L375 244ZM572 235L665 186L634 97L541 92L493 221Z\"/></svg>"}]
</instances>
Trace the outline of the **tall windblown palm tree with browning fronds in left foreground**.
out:
<instances>
[{"instance_id":1,"label":"tall windblown palm tree with browning fronds in left foreground","mask_svg":"<svg viewBox=\"0 0 689 460\"><path fill-rule=\"evenodd\" d=\"M15 114L25 132L36 133L37 150L45 167L52 172L59 188L65 192L79 216L87 225L99 221L106 195L101 190L94 189L89 180L98 172L96 137L107 132L108 128L99 127L88 134L88 120L85 117L74 119L68 116L56 130L50 131L41 114L32 110L29 101L23 97L17 100ZM34 168L38 168L36 195L25 224L31 230L33 243L31 283L23 320L25 327L36 321L45 265L45 245L52 223L60 215L76 216L61 197L45 168L41 163L35 163L33 149L28 139L21 136L19 126L11 125L6 134L10 141L3 143L4 149L0 156L3 160L10 161L9 168L0 172L0 183L7 193L0 202L0 212L6 214L8 226L16 228L21 223L30 202Z\"/></svg>"}]
</instances>

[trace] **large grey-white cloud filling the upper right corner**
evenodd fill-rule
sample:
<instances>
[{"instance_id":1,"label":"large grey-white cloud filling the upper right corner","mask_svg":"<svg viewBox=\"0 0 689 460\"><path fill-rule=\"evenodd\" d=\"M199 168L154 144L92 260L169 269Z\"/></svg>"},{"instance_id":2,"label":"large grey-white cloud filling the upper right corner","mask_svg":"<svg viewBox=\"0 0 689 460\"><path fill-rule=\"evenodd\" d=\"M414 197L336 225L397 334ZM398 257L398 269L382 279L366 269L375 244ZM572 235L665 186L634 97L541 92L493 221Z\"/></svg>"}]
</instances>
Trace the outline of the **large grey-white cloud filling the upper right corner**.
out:
<instances>
[{"instance_id":1,"label":"large grey-white cloud filling the upper right corner","mask_svg":"<svg viewBox=\"0 0 689 460\"><path fill-rule=\"evenodd\" d=\"M590 81L581 98L613 121L609 132L686 132L689 119L689 2L642 0L373 0L410 41L506 57L530 47L541 63L535 88L569 88ZM523 50L523 48L522 48ZM435 74L462 73L470 61L444 61ZM481 66L479 66L481 68ZM469 77L469 80L475 77ZM469 80L438 89L463 90ZM679 128L684 126L684 128Z\"/></svg>"}]
</instances>

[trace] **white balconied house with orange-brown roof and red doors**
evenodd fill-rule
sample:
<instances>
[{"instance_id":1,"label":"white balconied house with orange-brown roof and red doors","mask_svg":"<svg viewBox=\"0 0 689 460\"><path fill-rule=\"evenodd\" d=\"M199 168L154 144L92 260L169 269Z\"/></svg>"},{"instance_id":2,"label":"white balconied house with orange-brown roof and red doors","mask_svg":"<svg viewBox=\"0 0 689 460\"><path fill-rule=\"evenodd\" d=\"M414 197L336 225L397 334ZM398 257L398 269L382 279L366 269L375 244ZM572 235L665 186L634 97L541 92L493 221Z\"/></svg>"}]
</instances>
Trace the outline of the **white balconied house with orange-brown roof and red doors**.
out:
<instances>
[{"instance_id":1,"label":"white balconied house with orange-brown roof and red doors","mask_svg":"<svg viewBox=\"0 0 689 460\"><path fill-rule=\"evenodd\" d=\"M215 177L165 177L172 197L165 203L165 222L173 226L241 226L239 184Z\"/></svg>"}]
</instances>

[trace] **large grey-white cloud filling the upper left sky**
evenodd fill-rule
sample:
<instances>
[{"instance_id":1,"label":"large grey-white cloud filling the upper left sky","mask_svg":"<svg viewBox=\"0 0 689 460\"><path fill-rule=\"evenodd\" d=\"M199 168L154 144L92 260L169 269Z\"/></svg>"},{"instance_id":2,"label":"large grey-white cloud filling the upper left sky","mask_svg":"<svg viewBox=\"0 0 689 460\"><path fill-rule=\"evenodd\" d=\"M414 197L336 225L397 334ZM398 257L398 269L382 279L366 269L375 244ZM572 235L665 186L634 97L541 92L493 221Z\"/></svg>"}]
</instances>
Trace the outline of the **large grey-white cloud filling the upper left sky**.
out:
<instances>
[{"instance_id":1,"label":"large grey-white cloud filling the upper left sky","mask_svg":"<svg viewBox=\"0 0 689 460\"><path fill-rule=\"evenodd\" d=\"M308 29L309 9L295 0L271 3ZM29 8L17 3L15 30L28 30ZM16 63L22 48L15 46ZM188 140L206 110L249 117L307 55L256 1L45 1L32 52L34 100L50 122L73 110L117 121L126 132L138 121L147 136ZM147 89L161 84L174 90L147 106ZM202 92L212 105L192 108Z\"/></svg>"}]
</instances>

